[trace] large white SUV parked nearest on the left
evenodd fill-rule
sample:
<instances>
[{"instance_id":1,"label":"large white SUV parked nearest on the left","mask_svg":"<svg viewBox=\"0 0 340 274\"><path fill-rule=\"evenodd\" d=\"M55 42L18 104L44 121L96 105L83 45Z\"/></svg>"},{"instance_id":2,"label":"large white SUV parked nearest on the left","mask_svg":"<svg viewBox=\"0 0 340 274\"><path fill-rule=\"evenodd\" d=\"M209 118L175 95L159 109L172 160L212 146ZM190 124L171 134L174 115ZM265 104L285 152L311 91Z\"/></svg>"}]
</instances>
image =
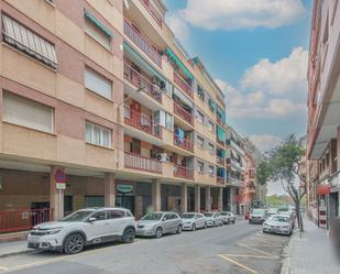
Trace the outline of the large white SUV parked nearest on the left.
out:
<instances>
[{"instance_id":1,"label":"large white SUV parked nearest on the left","mask_svg":"<svg viewBox=\"0 0 340 274\"><path fill-rule=\"evenodd\" d=\"M35 226L28 237L28 246L39 250L80 252L85 245L108 241L131 243L135 235L135 221L124 208L86 208L59 221Z\"/></svg>"}]
</instances>

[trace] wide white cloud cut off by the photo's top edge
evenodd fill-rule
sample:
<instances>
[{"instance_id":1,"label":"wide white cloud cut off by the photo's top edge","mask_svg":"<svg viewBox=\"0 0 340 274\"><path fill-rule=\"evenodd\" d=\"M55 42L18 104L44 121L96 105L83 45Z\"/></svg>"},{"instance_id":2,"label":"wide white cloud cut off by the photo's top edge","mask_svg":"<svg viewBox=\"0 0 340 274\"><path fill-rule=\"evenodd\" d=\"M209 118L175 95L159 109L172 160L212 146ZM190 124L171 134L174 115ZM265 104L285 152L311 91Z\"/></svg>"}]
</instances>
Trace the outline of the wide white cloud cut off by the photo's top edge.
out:
<instances>
[{"instance_id":1,"label":"wide white cloud cut off by the photo's top edge","mask_svg":"<svg viewBox=\"0 0 340 274\"><path fill-rule=\"evenodd\" d=\"M178 15L206 30L238 30L287 25L305 13L301 0L187 0Z\"/></svg>"}]
</instances>

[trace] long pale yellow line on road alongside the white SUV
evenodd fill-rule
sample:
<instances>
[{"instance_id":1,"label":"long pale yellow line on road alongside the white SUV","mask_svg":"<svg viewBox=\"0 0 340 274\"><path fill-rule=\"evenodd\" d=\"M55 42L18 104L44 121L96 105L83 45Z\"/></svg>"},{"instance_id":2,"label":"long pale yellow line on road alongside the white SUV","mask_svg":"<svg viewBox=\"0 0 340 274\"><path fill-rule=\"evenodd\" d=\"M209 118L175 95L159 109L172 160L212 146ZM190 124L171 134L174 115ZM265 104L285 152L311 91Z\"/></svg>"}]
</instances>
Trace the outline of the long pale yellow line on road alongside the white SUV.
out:
<instances>
[{"instance_id":1,"label":"long pale yellow line on road alongside the white SUV","mask_svg":"<svg viewBox=\"0 0 340 274\"><path fill-rule=\"evenodd\" d=\"M76 257L80 257L80 256L85 256L85 255L91 255L91 254L100 253L101 251L113 250L113 249L119 248L119 246L129 246L129 245L138 244L138 243L141 243L141 241L135 241L135 242L130 243L128 245L127 244L117 244L117 245L113 245L113 246L107 246L107 248L101 248L101 249L97 249L97 250L90 250L90 251L81 252L79 254L74 254L74 255L65 255L64 254L64 255L61 255L58 257L53 257L53 259L45 260L45 261L42 261L42 262L20 264L20 265L13 266L13 267L4 267L3 271L13 272L13 271L23 270L23 268L28 268L28 267L32 267L32 266L45 265L45 264L48 264L48 263L54 263L54 262L58 262L58 261L63 261L63 260L67 260L67 259L76 259ZM0 267L0 270L1 270L1 267Z\"/></svg>"}]
</instances>

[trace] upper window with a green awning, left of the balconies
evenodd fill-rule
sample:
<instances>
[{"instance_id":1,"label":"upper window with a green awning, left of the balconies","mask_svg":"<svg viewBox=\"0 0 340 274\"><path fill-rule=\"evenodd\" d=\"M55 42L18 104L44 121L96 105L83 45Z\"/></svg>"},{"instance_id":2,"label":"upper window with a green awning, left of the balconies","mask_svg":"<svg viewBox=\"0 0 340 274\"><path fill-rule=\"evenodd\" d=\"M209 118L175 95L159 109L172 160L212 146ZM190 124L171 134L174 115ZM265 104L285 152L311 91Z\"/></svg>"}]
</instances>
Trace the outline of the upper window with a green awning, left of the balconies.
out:
<instances>
[{"instance_id":1,"label":"upper window with a green awning, left of the balconies","mask_svg":"<svg viewBox=\"0 0 340 274\"><path fill-rule=\"evenodd\" d=\"M98 43L110 50L112 33L88 11L85 11L85 31Z\"/></svg>"}]
</instances>

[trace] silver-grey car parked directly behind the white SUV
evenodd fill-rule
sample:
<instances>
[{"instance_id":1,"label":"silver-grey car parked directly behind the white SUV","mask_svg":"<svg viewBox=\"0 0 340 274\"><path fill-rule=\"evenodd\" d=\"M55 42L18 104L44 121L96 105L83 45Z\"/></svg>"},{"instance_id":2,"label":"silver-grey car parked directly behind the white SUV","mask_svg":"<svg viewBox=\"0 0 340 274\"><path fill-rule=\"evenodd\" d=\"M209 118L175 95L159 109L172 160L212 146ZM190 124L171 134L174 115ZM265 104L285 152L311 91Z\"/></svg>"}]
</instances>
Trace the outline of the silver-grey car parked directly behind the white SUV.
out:
<instances>
[{"instance_id":1,"label":"silver-grey car parked directly behind the white SUV","mask_svg":"<svg viewBox=\"0 0 340 274\"><path fill-rule=\"evenodd\" d=\"M161 238L167 233L182 233L183 221L176 212L155 211L138 221L136 235Z\"/></svg>"}]
</instances>

